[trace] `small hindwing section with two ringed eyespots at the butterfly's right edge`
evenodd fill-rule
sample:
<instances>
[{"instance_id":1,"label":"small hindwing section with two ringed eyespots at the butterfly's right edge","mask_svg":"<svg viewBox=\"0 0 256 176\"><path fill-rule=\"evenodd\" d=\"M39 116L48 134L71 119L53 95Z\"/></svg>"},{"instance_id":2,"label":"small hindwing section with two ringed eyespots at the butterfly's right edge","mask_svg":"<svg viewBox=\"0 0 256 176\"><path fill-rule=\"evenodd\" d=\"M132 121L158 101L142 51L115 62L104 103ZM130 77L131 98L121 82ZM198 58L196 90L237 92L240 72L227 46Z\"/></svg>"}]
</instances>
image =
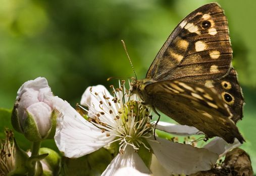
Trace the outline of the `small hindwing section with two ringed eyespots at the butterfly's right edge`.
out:
<instances>
[{"instance_id":1,"label":"small hindwing section with two ringed eyespots at the butterfly's right edge","mask_svg":"<svg viewBox=\"0 0 256 176\"><path fill-rule=\"evenodd\" d=\"M234 68L231 68L226 76L215 80L213 85L213 88L222 97L223 101L228 105L230 112L233 114L231 119L235 123L241 120L243 116L244 99Z\"/></svg>"}]
</instances>

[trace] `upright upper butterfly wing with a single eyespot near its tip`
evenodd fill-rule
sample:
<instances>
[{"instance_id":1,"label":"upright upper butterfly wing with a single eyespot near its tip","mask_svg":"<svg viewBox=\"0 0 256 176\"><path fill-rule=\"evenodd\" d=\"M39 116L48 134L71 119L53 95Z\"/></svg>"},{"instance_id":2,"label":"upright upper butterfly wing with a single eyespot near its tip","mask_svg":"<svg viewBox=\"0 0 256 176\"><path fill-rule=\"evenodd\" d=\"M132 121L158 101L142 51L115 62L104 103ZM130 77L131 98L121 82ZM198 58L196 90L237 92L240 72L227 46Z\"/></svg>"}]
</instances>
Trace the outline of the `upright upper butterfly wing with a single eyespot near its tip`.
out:
<instances>
[{"instance_id":1,"label":"upright upper butterfly wing with a single eyespot near its tip","mask_svg":"<svg viewBox=\"0 0 256 176\"><path fill-rule=\"evenodd\" d=\"M215 3L189 14L169 36L146 78L205 81L227 73L232 59L227 19Z\"/></svg>"}]
</instances>

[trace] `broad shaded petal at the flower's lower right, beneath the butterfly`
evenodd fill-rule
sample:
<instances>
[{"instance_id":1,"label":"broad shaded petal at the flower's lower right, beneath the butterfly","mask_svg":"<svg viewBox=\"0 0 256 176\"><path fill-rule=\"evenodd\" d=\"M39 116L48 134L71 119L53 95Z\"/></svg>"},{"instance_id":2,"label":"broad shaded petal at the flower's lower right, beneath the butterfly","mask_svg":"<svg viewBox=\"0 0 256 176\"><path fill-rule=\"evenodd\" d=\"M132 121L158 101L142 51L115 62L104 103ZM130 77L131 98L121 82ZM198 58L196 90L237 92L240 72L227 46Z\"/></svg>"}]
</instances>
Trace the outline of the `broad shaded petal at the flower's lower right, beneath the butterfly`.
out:
<instances>
[{"instance_id":1,"label":"broad shaded petal at the flower's lower right, beneath the butterfly","mask_svg":"<svg viewBox=\"0 0 256 176\"><path fill-rule=\"evenodd\" d=\"M147 141L159 162L170 174L191 174L209 170L218 159L216 153L189 144L175 143L159 137L157 142Z\"/></svg>"}]
</instances>

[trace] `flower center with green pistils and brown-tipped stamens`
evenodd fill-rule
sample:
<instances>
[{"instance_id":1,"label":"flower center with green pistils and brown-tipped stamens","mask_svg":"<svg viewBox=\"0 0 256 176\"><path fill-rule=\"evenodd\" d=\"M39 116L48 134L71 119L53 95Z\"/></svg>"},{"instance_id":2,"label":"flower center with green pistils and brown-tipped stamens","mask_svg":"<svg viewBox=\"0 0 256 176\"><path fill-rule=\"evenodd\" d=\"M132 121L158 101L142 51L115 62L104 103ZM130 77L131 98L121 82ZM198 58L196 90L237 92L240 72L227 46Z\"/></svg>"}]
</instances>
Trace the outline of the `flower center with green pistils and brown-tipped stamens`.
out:
<instances>
[{"instance_id":1,"label":"flower center with green pistils and brown-tipped stamens","mask_svg":"<svg viewBox=\"0 0 256 176\"><path fill-rule=\"evenodd\" d=\"M124 84L125 82L121 81L117 89L111 86L114 98L108 97L106 91L96 93L91 89L90 93L97 102L89 107L88 120L106 133L106 136L116 136L110 144L119 142L120 153L123 153L128 145L134 150L138 150L142 145L150 150L145 143L145 138L150 138L153 131L150 109L141 103L136 94L131 95Z\"/></svg>"}]
</instances>

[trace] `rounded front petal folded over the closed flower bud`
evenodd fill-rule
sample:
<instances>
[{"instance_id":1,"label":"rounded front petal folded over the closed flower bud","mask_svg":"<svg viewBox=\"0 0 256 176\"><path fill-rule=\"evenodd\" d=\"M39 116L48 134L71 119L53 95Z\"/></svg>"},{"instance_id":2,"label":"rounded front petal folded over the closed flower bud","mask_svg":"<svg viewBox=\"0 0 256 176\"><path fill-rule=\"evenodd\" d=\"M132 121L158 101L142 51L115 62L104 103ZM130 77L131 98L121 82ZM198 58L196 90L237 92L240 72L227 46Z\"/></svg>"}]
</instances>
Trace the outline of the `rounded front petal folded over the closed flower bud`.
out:
<instances>
[{"instance_id":1,"label":"rounded front petal folded over the closed flower bud","mask_svg":"<svg viewBox=\"0 0 256 176\"><path fill-rule=\"evenodd\" d=\"M38 102L29 106L27 111L34 118L40 135L44 137L52 126L50 118L53 110L47 104Z\"/></svg>"}]
</instances>

